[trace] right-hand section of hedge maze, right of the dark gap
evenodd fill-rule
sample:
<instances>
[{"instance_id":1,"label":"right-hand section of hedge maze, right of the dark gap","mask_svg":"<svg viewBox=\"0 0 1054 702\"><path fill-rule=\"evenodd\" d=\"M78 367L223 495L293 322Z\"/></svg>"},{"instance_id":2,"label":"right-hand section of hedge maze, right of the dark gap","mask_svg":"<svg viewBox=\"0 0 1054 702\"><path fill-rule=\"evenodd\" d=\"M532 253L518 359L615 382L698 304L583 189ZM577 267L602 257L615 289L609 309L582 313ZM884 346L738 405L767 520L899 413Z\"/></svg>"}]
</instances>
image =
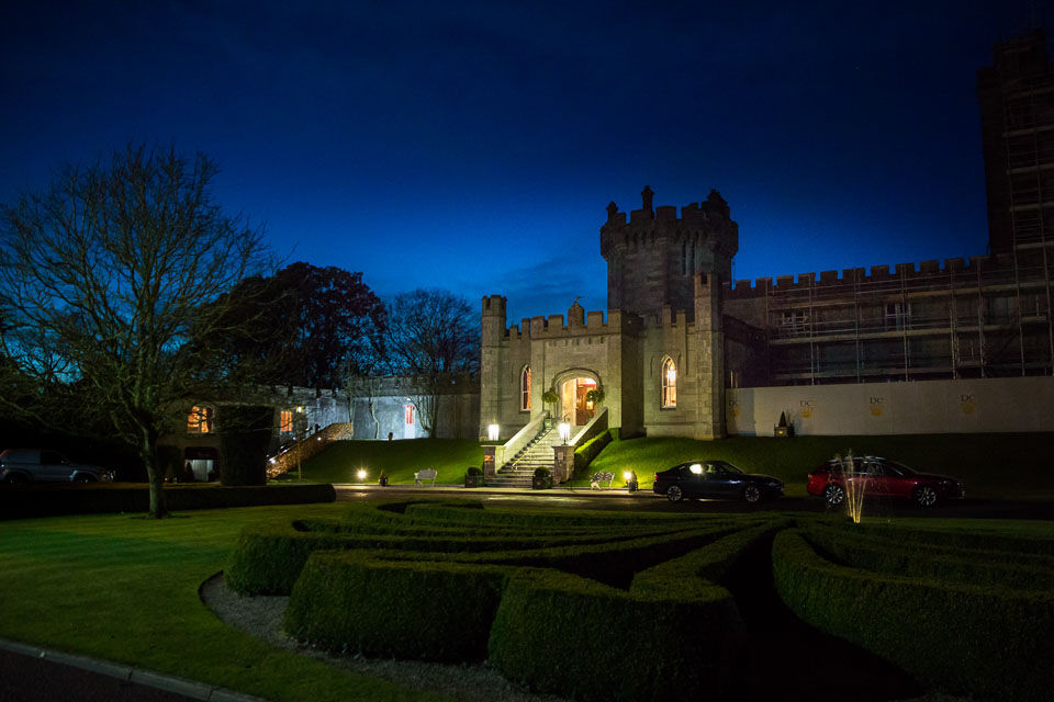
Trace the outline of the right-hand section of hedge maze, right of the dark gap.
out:
<instances>
[{"instance_id":1,"label":"right-hand section of hedge maze, right of the dark gap","mask_svg":"<svg viewBox=\"0 0 1054 702\"><path fill-rule=\"evenodd\" d=\"M777 534L772 564L798 616L929 687L985 700L1054 695L1050 537L815 521Z\"/></svg>"}]
</instances>

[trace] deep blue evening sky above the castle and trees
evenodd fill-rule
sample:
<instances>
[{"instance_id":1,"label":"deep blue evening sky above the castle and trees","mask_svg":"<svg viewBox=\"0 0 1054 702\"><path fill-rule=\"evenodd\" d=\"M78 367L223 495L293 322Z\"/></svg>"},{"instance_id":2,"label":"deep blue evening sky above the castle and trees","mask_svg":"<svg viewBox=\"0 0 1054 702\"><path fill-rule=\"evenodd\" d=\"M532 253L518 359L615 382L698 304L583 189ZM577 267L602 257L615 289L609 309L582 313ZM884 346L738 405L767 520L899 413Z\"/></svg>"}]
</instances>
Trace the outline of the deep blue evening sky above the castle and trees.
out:
<instances>
[{"instance_id":1,"label":"deep blue evening sky above the castle and trees","mask_svg":"<svg viewBox=\"0 0 1054 702\"><path fill-rule=\"evenodd\" d=\"M975 71L1052 3L8 0L0 201L175 144L290 261L511 322L606 307L646 183L721 192L738 279L984 253Z\"/></svg>"}]
</instances>

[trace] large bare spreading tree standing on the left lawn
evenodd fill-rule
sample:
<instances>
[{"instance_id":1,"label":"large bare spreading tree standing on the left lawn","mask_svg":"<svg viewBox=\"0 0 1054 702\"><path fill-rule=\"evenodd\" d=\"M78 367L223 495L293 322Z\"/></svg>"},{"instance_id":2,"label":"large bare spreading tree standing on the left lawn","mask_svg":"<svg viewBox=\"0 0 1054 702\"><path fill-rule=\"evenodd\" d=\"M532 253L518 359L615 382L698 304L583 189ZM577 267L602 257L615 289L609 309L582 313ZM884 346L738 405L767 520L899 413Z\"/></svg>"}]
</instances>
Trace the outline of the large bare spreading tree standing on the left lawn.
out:
<instances>
[{"instance_id":1,"label":"large bare spreading tree standing on the left lawn","mask_svg":"<svg viewBox=\"0 0 1054 702\"><path fill-rule=\"evenodd\" d=\"M216 173L201 154L128 146L0 210L3 352L42 394L106 419L146 467L153 517L167 512L158 439L186 422L208 363L188 335L229 324L205 303L265 263L262 231L214 202Z\"/></svg>"}]
</instances>

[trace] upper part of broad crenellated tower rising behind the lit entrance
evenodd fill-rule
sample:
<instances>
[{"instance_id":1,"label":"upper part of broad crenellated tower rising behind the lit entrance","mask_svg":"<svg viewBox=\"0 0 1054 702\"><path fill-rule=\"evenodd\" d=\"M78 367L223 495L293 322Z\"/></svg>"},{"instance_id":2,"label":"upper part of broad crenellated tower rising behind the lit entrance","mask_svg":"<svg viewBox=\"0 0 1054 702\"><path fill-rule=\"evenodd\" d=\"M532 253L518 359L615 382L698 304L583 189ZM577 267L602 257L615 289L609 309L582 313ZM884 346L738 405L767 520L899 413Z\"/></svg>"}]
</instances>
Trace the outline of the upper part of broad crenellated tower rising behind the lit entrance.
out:
<instances>
[{"instance_id":1,"label":"upper part of broad crenellated tower rising behind the lit entrance","mask_svg":"<svg viewBox=\"0 0 1054 702\"><path fill-rule=\"evenodd\" d=\"M739 225L716 191L702 203L681 208L652 206L644 186L642 206L626 214L614 202L601 227L601 254L607 261L607 306L641 316L658 315L664 305L695 310L698 274L731 279L739 250Z\"/></svg>"}]
</instances>

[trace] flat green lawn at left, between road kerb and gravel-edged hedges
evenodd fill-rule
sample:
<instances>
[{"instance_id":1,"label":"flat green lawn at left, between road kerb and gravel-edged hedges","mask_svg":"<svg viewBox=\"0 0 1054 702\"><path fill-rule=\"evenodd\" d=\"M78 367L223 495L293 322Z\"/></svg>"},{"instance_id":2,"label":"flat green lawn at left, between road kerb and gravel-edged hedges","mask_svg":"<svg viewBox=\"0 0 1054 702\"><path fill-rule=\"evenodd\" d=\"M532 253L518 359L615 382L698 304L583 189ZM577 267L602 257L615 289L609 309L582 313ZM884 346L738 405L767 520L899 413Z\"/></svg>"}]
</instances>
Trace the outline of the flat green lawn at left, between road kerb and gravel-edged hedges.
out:
<instances>
[{"instance_id":1,"label":"flat green lawn at left, between road kerb and gravel-edged hedges","mask_svg":"<svg viewBox=\"0 0 1054 702\"><path fill-rule=\"evenodd\" d=\"M0 522L0 636L239 690L268 700L435 700L278 650L216 620L198 587L242 528L273 516L337 517L338 505Z\"/></svg>"}]
</instances>

